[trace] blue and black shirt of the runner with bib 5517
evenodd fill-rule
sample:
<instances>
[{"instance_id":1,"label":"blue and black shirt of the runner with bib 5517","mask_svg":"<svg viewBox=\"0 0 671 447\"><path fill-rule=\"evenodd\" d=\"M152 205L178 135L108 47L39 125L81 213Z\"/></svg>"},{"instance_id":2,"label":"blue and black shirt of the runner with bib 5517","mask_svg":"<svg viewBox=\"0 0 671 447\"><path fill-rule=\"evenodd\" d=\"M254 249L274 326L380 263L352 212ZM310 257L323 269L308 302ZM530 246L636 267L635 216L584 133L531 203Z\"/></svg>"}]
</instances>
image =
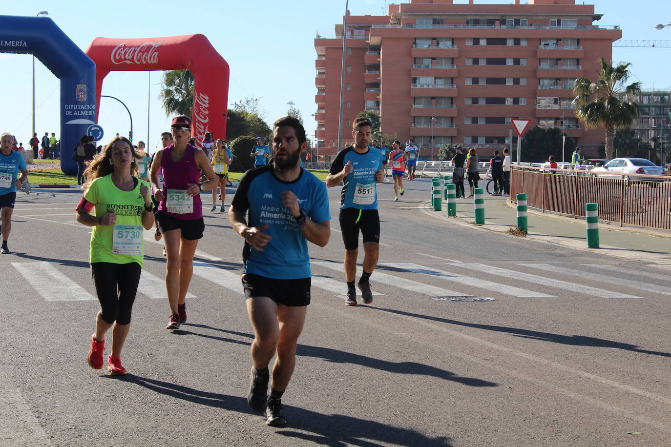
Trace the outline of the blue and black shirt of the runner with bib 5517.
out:
<instances>
[{"instance_id":1,"label":"blue and black shirt of the runner with bib 5517","mask_svg":"<svg viewBox=\"0 0 671 447\"><path fill-rule=\"evenodd\" d=\"M375 172L382 170L382 151L368 146L368 152L358 153L348 146L335 155L329 174L338 174L347 162L352 162L354 170L344 178L340 198L340 209L377 209L377 182Z\"/></svg>"}]
</instances>

